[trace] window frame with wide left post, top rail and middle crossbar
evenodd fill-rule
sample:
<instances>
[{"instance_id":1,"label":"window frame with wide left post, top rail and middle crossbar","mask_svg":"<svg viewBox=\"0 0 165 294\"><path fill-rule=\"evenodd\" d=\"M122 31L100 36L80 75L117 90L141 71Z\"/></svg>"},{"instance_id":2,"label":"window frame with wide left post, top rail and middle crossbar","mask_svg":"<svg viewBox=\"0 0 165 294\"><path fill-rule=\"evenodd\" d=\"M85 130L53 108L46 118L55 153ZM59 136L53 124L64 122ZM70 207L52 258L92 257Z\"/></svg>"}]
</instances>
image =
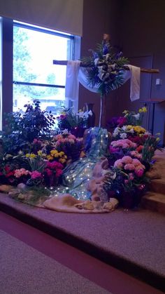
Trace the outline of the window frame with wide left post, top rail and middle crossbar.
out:
<instances>
[{"instance_id":1,"label":"window frame with wide left post, top rail and middle crossbar","mask_svg":"<svg viewBox=\"0 0 165 294\"><path fill-rule=\"evenodd\" d=\"M63 36L67 39L71 39L71 60L75 58L80 58L80 36L74 36L71 34L66 34L62 32L53 31L51 29L45 29L42 27L36 27L35 25L28 25L21 22L13 21L9 18L0 18L1 25L1 83L0 83L0 111L1 111L1 122L0 128L3 128L4 124L4 114L8 112L13 112L13 83L25 84L29 86L48 86L50 88L65 88L61 85L52 85L45 83L29 83L21 81L13 81L13 26L18 25L19 27L25 27L28 29L33 29L39 32L44 32L48 34L54 34L57 36ZM53 60L52 60L53 62ZM74 106L74 109L78 109L78 101L73 105L71 101L68 102L69 107Z\"/></svg>"}]
</instances>

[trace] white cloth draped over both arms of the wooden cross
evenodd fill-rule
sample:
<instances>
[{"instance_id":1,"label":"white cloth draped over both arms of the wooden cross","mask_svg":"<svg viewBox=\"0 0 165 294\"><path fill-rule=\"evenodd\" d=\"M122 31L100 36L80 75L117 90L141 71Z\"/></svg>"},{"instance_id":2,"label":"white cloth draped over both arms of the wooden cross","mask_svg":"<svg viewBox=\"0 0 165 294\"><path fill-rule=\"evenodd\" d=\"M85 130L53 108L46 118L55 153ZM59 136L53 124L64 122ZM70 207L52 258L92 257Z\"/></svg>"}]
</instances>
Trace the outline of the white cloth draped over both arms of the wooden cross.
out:
<instances>
[{"instance_id":1,"label":"white cloth draped over both arms of the wooden cross","mask_svg":"<svg viewBox=\"0 0 165 294\"><path fill-rule=\"evenodd\" d=\"M141 68L134 65L127 65L129 70L123 73L124 83L130 79L130 99L131 101L140 98L140 81L141 81ZM98 93L98 87L90 87L87 85L87 69L80 67L79 60L69 60L66 67L66 87L65 96L70 100L78 100L79 82L89 91Z\"/></svg>"}]
</instances>

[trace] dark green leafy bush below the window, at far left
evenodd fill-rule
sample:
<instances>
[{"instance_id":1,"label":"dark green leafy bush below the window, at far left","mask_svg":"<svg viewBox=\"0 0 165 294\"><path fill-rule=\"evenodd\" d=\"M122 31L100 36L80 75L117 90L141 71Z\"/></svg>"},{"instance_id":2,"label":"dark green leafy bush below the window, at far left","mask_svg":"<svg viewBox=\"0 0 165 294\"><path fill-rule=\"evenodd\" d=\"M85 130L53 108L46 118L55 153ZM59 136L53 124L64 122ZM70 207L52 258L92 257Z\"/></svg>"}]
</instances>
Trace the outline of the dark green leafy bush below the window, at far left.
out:
<instances>
[{"instance_id":1,"label":"dark green leafy bush below the window, at far left","mask_svg":"<svg viewBox=\"0 0 165 294\"><path fill-rule=\"evenodd\" d=\"M34 100L32 105L24 105L25 112L6 114L6 124L1 132L1 151L17 154L20 150L29 152L35 138L51 138L51 128L55 123L54 116L42 111L40 102Z\"/></svg>"}]
</instances>

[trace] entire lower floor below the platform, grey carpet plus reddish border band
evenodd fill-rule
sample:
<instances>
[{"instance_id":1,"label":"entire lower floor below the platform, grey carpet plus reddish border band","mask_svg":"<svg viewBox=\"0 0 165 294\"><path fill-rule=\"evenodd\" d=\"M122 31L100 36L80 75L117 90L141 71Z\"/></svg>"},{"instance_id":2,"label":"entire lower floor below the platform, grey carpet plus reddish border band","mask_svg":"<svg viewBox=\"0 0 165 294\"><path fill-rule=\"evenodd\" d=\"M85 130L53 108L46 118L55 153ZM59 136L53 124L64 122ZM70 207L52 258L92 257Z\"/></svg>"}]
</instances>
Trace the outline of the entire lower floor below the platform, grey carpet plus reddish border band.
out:
<instances>
[{"instance_id":1,"label":"entire lower floor below the platform, grey carpet plus reddish border band","mask_svg":"<svg viewBox=\"0 0 165 294\"><path fill-rule=\"evenodd\" d=\"M0 267L3 294L162 293L2 212Z\"/></svg>"}]
</instances>

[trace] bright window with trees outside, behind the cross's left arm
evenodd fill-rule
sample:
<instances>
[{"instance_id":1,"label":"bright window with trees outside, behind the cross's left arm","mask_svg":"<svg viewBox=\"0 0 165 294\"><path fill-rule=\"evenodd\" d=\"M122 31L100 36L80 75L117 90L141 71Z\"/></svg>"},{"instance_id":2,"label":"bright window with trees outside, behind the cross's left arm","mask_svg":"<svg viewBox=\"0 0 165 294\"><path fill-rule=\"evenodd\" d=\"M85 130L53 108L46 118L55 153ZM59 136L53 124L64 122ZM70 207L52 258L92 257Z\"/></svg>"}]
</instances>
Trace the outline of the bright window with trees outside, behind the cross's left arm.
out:
<instances>
[{"instance_id":1,"label":"bright window with trees outside, behind the cross's left arm","mask_svg":"<svg viewBox=\"0 0 165 294\"><path fill-rule=\"evenodd\" d=\"M71 34L13 22L13 111L34 99L54 114L66 105L66 66L52 60L73 59L74 41Z\"/></svg>"}]
</instances>

